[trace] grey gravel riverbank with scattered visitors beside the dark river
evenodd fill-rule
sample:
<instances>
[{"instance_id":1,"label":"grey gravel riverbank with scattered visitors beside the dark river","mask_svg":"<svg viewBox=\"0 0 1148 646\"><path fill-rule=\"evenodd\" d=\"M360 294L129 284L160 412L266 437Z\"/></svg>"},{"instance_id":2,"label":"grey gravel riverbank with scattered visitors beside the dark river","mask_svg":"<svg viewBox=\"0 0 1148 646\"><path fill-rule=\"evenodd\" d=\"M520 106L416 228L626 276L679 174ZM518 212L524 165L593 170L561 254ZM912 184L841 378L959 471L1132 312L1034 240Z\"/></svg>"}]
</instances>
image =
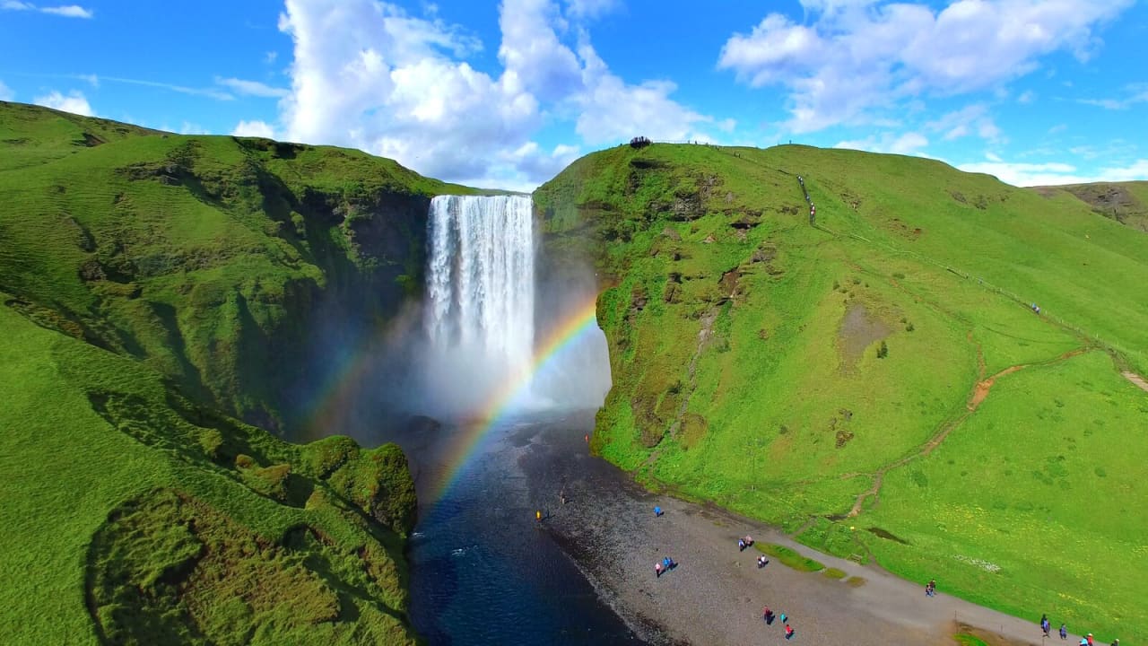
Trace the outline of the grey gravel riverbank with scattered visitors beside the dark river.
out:
<instances>
[{"instance_id":1,"label":"grey gravel riverbank with scattered visitors beside the dark river","mask_svg":"<svg viewBox=\"0 0 1148 646\"><path fill-rule=\"evenodd\" d=\"M535 495L557 495L564 478L567 505L557 505L544 530L563 546L598 594L651 644L785 645L783 626L766 625L761 608L785 613L797 631L792 643L817 645L953 646L960 624L975 626L999 646L1040 645L1032 622L945 594L926 598L921 584L876 566L820 554L760 523L706 505L651 494L606 462L585 453L582 431L535 433L520 464ZM665 515L654 517L658 505ZM530 525L532 518L523 518ZM777 561L758 569L755 549L738 552L737 538L752 535L860 577L850 585L819 572L800 572ZM680 566L654 576L661 556ZM1072 641L1076 644L1079 641Z\"/></svg>"}]
</instances>

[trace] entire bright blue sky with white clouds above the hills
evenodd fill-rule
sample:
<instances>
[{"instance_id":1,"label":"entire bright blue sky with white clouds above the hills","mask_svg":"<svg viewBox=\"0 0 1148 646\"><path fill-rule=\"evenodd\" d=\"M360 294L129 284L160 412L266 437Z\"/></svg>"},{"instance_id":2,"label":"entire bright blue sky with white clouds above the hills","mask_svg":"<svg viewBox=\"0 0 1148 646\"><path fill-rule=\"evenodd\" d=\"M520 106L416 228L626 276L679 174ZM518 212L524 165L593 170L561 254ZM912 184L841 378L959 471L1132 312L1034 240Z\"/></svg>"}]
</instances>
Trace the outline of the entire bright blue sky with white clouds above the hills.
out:
<instances>
[{"instance_id":1,"label":"entire bright blue sky with white clouds above the hills","mask_svg":"<svg viewBox=\"0 0 1148 646\"><path fill-rule=\"evenodd\" d=\"M1134 0L0 0L0 100L529 189L646 134L1148 179Z\"/></svg>"}]
</instances>

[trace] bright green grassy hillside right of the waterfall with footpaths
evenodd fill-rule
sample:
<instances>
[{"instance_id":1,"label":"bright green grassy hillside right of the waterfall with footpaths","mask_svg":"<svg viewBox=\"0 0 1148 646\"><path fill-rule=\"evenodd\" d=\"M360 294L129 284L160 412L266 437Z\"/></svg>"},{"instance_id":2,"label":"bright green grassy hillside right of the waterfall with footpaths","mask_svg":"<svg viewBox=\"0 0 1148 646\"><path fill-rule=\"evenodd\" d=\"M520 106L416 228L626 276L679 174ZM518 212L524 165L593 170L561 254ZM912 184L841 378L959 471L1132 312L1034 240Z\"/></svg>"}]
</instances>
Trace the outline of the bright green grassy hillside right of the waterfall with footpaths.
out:
<instances>
[{"instance_id":1,"label":"bright green grassy hillside right of the waterfall with footpaths","mask_svg":"<svg viewBox=\"0 0 1148 646\"><path fill-rule=\"evenodd\" d=\"M808 226L796 174L821 229ZM588 249L612 277L598 308L614 378L595 437L603 455L651 484L778 523L839 555L871 553L906 576L928 571L947 591L1024 616L1056 608L1097 635L1143 625L1128 606L1143 583L1097 576L1142 559L1143 518L1088 531L1078 563L1055 576L1038 567L1079 541L1070 521L1079 510L1143 499L1143 483L1089 470L1069 471L1055 498L1044 479L1010 482L1015 493L967 486L995 469L985 454L1027 461L1035 441L970 440L978 428L1079 434L1079 415L1021 413L1035 406L1026 393L1055 391L1064 402L1116 392L1122 379L1100 349L1066 353L1104 348L1122 367L1148 368L1142 238L1068 194L1046 198L926 160L802 146L613 148L579 160L535 200L551 246ZM1042 316L1025 307L1033 301ZM846 316L859 307L860 317ZM858 345L860 355L850 351ZM1039 366L1000 377L970 413L975 384L1017 364ZM1142 392L1122 392L1109 406L1143 406ZM1146 417L1116 415L1094 413L1103 429L1087 421L1097 464L1148 452ZM954 451L965 477L928 477L929 500L1004 505L996 521L1027 522L1025 505L1053 498L1042 508L1062 520L1040 541L922 522L914 474ZM866 495L875 483L878 494ZM854 505L860 515L843 520ZM881 537L899 531L909 545ZM1008 566L990 584L955 555Z\"/></svg>"}]
</instances>

